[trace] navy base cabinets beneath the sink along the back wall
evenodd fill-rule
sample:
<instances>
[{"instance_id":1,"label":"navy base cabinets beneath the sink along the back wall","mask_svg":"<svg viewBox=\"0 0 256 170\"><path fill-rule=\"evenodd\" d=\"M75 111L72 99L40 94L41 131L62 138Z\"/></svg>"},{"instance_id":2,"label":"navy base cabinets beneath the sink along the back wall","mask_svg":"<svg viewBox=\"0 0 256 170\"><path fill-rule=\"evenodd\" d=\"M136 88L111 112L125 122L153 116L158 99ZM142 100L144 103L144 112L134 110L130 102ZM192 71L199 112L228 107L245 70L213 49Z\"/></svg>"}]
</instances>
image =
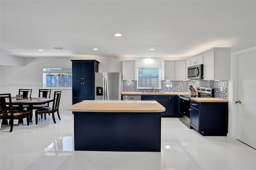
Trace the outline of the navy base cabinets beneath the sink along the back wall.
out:
<instances>
[{"instance_id":1,"label":"navy base cabinets beneath the sink along the back wall","mask_svg":"<svg viewBox=\"0 0 256 170\"><path fill-rule=\"evenodd\" d=\"M176 95L142 95L141 100L154 100L165 107L162 117L177 117L178 112L178 96Z\"/></svg>"}]
</instances>

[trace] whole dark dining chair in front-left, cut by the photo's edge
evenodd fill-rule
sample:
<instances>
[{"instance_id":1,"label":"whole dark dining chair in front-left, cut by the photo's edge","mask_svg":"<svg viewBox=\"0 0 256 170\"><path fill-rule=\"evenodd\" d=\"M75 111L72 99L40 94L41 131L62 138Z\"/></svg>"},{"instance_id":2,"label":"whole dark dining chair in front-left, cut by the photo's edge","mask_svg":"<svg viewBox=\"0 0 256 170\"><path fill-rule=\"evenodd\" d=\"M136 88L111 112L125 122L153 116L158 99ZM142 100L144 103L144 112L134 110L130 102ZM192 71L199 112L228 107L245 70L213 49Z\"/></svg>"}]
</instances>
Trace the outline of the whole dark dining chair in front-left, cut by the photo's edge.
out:
<instances>
[{"instance_id":1,"label":"whole dark dining chair in front-left, cut by the photo's edge","mask_svg":"<svg viewBox=\"0 0 256 170\"><path fill-rule=\"evenodd\" d=\"M6 98L8 98L9 100L9 106L7 107L6 104ZM10 132L12 132L13 129L13 121L14 119L27 119L27 125L29 125L29 115L30 112L29 111L19 111L19 112L13 112L12 109L12 98L11 98L11 94L0 94L0 110L1 110L1 115L0 115L0 119L3 120L10 120Z\"/></svg>"}]
</instances>

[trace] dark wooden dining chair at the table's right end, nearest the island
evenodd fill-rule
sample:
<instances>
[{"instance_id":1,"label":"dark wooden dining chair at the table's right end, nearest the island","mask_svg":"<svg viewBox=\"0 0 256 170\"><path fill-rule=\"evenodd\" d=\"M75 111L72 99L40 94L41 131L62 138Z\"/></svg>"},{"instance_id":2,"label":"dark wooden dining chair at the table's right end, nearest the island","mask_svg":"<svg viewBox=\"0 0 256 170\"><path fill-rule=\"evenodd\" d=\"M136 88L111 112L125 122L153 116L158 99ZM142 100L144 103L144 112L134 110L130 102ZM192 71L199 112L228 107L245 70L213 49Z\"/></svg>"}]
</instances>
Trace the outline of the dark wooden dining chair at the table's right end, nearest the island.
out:
<instances>
[{"instance_id":1,"label":"dark wooden dining chair at the table's right end, nearest the island","mask_svg":"<svg viewBox=\"0 0 256 170\"><path fill-rule=\"evenodd\" d=\"M38 123L38 115L39 114L41 114L41 115L44 114L44 120L45 120L46 119L46 113L51 113L52 114L52 120L53 120L54 123L56 123L54 113L57 112L58 117L60 119L60 113L59 113L60 95L61 95L61 90L60 91L54 91L54 98L53 98L52 107L43 107L42 109L38 109L38 110L35 111L36 125Z\"/></svg>"}]
</instances>

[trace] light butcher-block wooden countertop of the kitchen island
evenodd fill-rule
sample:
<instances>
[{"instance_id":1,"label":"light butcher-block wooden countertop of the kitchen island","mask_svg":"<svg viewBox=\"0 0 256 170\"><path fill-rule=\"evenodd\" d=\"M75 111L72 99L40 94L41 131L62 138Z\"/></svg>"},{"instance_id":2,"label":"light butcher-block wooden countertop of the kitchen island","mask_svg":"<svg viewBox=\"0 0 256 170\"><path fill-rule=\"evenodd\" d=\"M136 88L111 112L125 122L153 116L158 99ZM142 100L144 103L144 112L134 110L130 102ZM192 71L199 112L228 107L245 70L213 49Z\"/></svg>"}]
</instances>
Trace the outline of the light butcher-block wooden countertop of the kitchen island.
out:
<instances>
[{"instance_id":1,"label":"light butcher-block wooden countertop of the kitchen island","mask_svg":"<svg viewBox=\"0 0 256 170\"><path fill-rule=\"evenodd\" d=\"M157 101L102 101L85 100L67 107L73 112L164 112Z\"/></svg>"}]
</instances>

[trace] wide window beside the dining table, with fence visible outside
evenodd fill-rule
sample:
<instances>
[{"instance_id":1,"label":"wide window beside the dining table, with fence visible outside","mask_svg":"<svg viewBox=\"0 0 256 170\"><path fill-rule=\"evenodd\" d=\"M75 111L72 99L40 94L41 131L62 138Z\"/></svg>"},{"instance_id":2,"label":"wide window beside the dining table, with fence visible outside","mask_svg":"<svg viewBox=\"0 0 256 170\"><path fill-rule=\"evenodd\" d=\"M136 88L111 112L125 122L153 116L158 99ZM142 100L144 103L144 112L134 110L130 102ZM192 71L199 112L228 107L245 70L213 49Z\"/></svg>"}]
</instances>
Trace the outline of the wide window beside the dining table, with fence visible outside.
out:
<instances>
[{"instance_id":1,"label":"wide window beside the dining table, with fence visible outside","mask_svg":"<svg viewBox=\"0 0 256 170\"><path fill-rule=\"evenodd\" d=\"M72 87L71 68L43 68L43 88L70 89Z\"/></svg>"}]
</instances>

